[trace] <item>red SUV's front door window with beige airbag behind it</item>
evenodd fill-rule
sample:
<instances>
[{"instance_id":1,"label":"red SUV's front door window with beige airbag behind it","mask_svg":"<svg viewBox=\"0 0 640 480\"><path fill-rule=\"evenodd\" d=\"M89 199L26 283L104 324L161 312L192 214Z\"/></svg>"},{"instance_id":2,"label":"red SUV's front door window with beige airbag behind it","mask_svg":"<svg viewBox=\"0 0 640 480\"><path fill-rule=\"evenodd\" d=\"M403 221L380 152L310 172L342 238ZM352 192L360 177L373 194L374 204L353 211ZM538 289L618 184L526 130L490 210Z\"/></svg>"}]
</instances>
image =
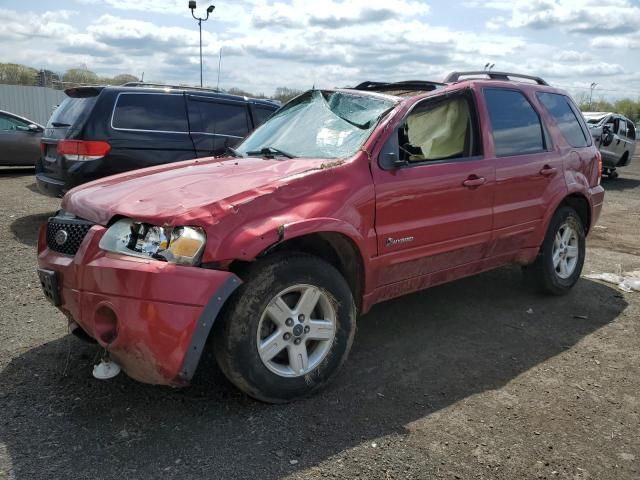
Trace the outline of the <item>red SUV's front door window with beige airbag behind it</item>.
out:
<instances>
[{"instance_id":1,"label":"red SUV's front door window with beige airbag behind it","mask_svg":"<svg viewBox=\"0 0 640 480\"><path fill-rule=\"evenodd\" d=\"M399 158L411 164L477 155L475 125L466 95L426 100L398 129Z\"/></svg>"}]
</instances>

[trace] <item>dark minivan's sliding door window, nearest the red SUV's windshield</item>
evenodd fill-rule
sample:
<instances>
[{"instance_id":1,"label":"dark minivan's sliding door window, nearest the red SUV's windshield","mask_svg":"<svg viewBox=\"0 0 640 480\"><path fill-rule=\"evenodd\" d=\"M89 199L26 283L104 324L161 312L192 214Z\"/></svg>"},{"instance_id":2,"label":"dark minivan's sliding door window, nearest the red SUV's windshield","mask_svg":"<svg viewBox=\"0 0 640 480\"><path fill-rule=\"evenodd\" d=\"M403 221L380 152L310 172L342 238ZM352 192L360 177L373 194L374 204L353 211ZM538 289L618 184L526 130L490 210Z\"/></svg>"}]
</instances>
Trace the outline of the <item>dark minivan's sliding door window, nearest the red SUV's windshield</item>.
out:
<instances>
[{"instance_id":1,"label":"dark minivan's sliding door window, nearest the red SUV's windshield","mask_svg":"<svg viewBox=\"0 0 640 480\"><path fill-rule=\"evenodd\" d=\"M197 122L192 131L244 138L249 133L247 105L242 102L220 102L190 97ZM194 130L195 129L195 130Z\"/></svg>"}]
</instances>

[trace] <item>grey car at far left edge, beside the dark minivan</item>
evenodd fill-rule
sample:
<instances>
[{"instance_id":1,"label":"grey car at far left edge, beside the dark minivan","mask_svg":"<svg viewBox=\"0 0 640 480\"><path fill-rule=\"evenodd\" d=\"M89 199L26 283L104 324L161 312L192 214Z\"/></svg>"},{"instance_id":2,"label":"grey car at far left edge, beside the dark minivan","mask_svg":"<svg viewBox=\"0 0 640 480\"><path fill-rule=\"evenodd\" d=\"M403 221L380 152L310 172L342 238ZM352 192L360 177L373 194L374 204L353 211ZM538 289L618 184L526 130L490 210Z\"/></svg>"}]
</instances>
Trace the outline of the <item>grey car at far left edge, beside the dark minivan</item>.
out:
<instances>
[{"instance_id":1,"label":"grey car at far left edge, beside the dark minivan","mask_svg":"<svg viewBox=\"0 0 640 480\"><path fill-rule=\"evenodd\" d=\"M28 118L0 110L0 165L35 166L43 131Z\"/></svg>"}]
</instances>

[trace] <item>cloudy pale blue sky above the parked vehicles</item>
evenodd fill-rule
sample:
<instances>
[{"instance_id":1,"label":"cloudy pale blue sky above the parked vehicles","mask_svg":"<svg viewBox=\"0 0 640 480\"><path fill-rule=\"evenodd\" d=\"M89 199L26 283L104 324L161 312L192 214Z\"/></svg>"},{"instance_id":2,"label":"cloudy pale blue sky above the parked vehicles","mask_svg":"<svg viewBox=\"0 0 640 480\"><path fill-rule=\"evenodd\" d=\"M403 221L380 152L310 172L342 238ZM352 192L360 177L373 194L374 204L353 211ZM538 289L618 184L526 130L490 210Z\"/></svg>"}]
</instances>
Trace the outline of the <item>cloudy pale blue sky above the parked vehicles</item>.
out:
<instances>
[{"instance_id":1,"label":"cloudy pale blue sky above the parked vehicles","mask_svg":"<svg viewBox=\"0 0 640 480\"><path fill-rule=\"evenodd\" d=\"M0 0L0 62L199 83L187 0ZM640 0L198 1L204 83L278 86L442 80L454 70L538 75L574 96L640 98Z\"/></svg>"}]
</instances>

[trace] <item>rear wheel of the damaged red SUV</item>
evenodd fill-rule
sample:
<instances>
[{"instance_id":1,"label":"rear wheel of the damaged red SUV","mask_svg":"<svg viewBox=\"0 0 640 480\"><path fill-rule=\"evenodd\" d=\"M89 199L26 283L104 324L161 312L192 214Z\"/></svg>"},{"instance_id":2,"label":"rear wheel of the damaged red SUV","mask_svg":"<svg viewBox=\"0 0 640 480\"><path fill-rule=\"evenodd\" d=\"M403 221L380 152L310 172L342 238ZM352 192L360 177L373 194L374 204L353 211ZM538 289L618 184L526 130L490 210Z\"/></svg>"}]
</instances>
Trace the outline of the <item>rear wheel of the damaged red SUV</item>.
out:
<instances>
[{"instance_id":1,"label":"rear wheel of the damaged red SUV","mask_svg":"<svg viewBox=\"0 0 640 480\"><path fill-rule=\"evenodd\" d=\"M585 257L582 220L571 207L553 215L536 261L525 267L525 277L539 290L564 295L576 284Z\"/></svg>"}]
</instances>

